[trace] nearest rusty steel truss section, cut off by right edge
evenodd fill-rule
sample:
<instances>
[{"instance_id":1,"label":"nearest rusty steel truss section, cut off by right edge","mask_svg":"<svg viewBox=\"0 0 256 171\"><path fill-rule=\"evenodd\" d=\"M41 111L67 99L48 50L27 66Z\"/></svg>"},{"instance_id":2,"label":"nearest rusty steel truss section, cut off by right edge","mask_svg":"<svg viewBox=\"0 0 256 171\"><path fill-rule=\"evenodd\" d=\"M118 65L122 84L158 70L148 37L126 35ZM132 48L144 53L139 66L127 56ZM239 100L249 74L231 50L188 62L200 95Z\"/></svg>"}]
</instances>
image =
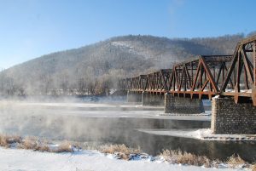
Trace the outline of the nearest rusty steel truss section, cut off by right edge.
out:
<instances>
[{"instance_id":1,"label":"nearest rusty steel truss section, cut off by right edge","mask_svg":"<svg viewBox=\"0 0 256 171\"><path fill-rule=\"evenodd\" d=\"M236 103L247 98L247 100L253 101L254 106L256 106L255 43L256 36L248 37L237 43L233 59L220 89L221 95L233 96ZM234 86L229 87L228 85L231 84Z\"/></svg>"}]
</instances>

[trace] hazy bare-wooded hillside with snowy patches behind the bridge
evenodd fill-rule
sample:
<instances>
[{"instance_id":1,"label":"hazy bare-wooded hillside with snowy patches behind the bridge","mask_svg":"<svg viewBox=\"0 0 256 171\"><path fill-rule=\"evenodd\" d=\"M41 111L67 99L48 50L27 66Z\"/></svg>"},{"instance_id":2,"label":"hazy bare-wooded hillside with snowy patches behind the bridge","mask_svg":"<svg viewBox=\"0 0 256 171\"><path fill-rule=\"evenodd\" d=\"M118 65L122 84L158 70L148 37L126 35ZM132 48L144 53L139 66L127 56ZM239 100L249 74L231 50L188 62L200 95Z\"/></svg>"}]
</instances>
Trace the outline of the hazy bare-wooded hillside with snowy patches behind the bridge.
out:
<instances>
[{"instance_id":1,"label":"hazy bare-wooded hillside with snowy patches behind the bridge","mask_svg":"<svg viewBox=\"0 0 256 171\"><path fill-rule=\"evenodd\" d=\"M11 67L0 75L1 93L108 94L119 78L171 68L195 54L232 54L241 38L242 34L192 39L113 37Z\"/></svg>"}]
</instances>

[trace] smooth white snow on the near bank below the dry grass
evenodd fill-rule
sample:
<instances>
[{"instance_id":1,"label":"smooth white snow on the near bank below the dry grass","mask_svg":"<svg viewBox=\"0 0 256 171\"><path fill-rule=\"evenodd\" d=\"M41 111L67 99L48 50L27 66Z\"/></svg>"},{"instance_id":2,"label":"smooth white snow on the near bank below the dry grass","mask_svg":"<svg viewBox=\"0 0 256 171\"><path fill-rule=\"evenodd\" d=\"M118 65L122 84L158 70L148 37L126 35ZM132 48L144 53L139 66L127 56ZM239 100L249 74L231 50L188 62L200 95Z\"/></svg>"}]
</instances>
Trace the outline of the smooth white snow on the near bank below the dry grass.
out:
<instances>
[{"instance_id":1,"label":"smooth white snow on the near bank below the dry grass","mask_svg":"<svg viewBox=\"0 0 256 171\"><path fill-rule=\"evenodd\" d=\"M73 153L50 153L19 149L0 148L0 170L4 171L213 171L216 168L184 166L147 159L119 160L113 155L105 156L98 151L76 151ZM221 171L245 170L219 168Z\"/></svg>"}]
</instances>

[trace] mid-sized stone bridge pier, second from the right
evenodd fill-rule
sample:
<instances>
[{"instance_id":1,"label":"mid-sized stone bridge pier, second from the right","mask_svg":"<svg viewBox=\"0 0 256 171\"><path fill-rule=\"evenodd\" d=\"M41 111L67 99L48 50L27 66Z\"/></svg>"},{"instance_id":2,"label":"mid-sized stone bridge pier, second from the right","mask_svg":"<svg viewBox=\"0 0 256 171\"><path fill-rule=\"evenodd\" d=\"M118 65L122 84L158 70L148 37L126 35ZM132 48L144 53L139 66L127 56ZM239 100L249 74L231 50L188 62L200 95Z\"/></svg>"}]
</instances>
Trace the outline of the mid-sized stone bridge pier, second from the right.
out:
<instances>
[{"instance_id":1,"label":"mid-sized stone bridge pier, second from the right","mask_svg":"<svg viewBox=\"0 0 256 171\"><path fill-rule=\"evenodd\" d=\"M204 112L202 100L174 97L165 94L165 113L196 114Z\"/></svg>"}]
</instances>

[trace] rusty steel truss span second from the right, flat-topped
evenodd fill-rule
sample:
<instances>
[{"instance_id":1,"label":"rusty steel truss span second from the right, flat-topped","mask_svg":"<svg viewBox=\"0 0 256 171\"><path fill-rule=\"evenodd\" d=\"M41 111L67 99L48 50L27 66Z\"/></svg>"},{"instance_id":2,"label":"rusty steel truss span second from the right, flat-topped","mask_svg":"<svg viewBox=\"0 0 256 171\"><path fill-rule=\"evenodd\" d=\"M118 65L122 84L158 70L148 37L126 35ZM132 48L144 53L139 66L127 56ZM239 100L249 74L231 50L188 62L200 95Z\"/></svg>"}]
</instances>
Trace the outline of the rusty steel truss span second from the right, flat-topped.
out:
<instances>
[{"instance_id":1,"label":"rusty steel truss span second from the right, flat-topped","mask_svg":"<svg viewBox=\"0 0 256 171\"><path fill-rule=\"evenodd\" d=\"M207 57L209 58L206 61ZM190 98L193 98L194 94L198 94L200 99L202 94L208 94L209 99L212 98L212 95L218 94L218 86L208 63L210 61L219 63L228 61L230 55L218 55L216 58L218 59L214 60L213 56L196 56L192 60L186 60L174 66L170 93L178 95L189 93Z\"/></svg>"}]
</instances>

